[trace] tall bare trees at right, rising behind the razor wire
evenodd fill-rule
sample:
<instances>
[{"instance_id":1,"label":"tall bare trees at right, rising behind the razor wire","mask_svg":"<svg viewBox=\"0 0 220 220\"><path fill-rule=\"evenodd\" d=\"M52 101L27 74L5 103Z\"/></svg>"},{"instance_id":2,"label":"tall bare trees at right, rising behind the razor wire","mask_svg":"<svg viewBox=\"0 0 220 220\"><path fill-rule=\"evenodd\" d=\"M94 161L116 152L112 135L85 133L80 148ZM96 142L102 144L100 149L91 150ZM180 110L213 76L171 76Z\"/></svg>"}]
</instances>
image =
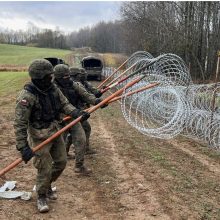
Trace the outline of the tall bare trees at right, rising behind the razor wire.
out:
<instances>
[{"instance_id":1,"label":"tall bare trees at right, rising behind the razor wire","mask_svg":"<svg viewBox=\"0 0 220 220\"><path fill-rule=\"evenodd\" d=\"M214 78L220 50L220 2L125 2L121 7L128 48L153 55L175 53L195 79Z\"/></svg>"}]
</instances>

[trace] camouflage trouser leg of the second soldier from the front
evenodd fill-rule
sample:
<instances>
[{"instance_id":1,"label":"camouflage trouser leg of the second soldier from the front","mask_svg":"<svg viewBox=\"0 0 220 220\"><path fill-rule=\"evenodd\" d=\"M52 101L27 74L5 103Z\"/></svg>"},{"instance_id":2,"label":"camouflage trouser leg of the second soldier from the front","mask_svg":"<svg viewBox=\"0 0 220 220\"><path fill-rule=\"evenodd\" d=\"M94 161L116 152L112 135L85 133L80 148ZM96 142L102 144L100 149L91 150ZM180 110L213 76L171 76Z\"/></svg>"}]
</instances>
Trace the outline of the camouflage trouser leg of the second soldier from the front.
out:
<instances>
[{"instance_id":1,"label":"camouflage trouser leg of the second soldier from the front","mask_svg":"<svg viewBox=\"0 0 220 220\"><path fill-rule=\"evenodd\" d=\"M80 123L74 125L71 130L72 142L75 146L76 167L80 167L84 163L85 155L85 132Z\"/></svg>"}]
</instances>

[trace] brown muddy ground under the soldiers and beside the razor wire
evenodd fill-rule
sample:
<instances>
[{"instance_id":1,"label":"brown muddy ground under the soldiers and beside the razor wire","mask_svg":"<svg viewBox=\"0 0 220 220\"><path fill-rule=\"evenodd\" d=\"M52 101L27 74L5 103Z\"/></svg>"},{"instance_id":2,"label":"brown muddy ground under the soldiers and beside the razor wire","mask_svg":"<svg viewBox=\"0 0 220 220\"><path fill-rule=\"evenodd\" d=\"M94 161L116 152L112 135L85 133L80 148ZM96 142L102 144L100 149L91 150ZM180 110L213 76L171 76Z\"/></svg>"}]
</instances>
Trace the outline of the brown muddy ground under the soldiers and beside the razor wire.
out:
<instances>
[{"instance_id":1,"label":"brown muddy ground under the soldiers and beside the razor wire","mask_svg":"<svg viewBox=\"0 0 220 220\"><path fill-rule=\"evenodd\" d=\"M19 156L13 133L14 97L1 97L0 168ZM89 119L91 146L86 156L90 177L77 177L74 160L55 183L59 199L39 214L30 201L0 200L0 219L220 219L220 154L184 137L149 138L123 118L118 102ZM32 191L31 162L6 174L17 190ZM0 179L3 184L3 179Z\"/></svg>"}]
</instances>

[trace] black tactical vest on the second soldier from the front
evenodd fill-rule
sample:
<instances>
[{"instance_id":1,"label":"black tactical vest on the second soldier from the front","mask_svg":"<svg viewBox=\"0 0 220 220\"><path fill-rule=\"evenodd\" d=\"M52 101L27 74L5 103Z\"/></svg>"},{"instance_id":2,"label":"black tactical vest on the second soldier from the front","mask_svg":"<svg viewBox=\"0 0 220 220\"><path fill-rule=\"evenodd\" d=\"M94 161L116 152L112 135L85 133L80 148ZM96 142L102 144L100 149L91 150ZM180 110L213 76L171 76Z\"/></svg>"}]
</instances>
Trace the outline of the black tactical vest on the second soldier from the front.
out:
<instances>
[{"instance_id":1,"label":"black tactical vest on the second soldier from the front","mask_svg":"<svg viewBox=\"0 0 220 220\"><path fill-rule=\"evenodd\" d=\"M77 108L77 102L79 100L79 95L75 92L72 84L70 86L63 87L59 82L56 81L57 86L63 93L63 95L68 99L68 101Z\"/></svg>"}]
</instances>

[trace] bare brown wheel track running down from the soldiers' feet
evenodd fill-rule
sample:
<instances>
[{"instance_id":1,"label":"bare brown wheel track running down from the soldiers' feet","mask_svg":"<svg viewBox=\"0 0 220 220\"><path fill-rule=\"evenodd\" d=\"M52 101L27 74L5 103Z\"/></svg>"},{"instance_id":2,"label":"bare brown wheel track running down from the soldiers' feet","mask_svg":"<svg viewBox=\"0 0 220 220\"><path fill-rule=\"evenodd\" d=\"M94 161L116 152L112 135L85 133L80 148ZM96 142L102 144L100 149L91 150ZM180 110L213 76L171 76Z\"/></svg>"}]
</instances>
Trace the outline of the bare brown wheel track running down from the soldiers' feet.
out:
<instances>
[{"instance_id":1,"label":"bare brown wheel track running down from the soldiers' feet","mask_svg":"<svg viewBox=\"0 0 220 220\"><path fill-rule=\"evenodd\" d=\"M100 117L96 118L96 126L98 128L94 130L99 131L96 135L102 138L105 145L102 150L110 151L110 165L116 172L124 219L170 219L164 213L153 187L145 180L139 165L119 155L111 132L106 129Z\"/></svg>"}]
</instances>

